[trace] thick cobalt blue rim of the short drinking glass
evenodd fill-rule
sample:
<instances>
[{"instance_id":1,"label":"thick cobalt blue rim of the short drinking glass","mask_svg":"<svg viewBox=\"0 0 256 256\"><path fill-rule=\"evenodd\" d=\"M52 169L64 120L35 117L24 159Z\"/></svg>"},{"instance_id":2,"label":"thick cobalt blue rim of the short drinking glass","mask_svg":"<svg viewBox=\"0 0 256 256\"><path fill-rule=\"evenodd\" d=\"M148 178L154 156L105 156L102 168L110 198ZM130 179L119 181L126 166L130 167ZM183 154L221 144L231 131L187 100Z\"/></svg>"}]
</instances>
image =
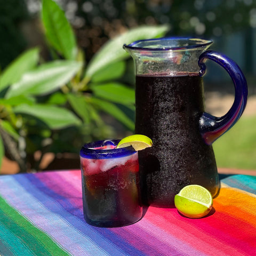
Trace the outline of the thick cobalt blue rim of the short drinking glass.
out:
<instances>
[{"instance_id":1,"label":"thick cobalt blue rim of the short drinking glass","mask_svg":"<svg viewBox=\"0 0 256 256\"><path fill-rule=\"evenodd\" d=\"M111 141L114 142L114 145L116 146L120 140ZM94 149L97 147L101 147L105 142L106 140L99 140L86 143L80 150L80 156L91 159L106 159L130 156L137 152L132 146L114 149Z\"/></svg>"}]
</instances>

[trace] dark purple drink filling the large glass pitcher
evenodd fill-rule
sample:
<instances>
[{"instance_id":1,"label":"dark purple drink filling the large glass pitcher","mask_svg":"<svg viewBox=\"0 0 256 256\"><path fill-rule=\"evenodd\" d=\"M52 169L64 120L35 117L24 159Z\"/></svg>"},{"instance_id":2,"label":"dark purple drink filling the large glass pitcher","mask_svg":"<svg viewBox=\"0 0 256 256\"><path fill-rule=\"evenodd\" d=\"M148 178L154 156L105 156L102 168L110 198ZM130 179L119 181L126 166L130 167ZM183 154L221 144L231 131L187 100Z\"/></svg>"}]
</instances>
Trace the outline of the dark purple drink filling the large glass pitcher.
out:
<instances>
[{"instance_id":1,"label":"dark purple drink filling the large glass pitcher","mask_svg":"<svg viewBox=\"0 0 256 256\"><path fill-rule=\"evenodd\" d=\"M164 206L189 184L200 184L217 194L219 180L213 150L202 140L197 125L204 111L202 78L195 73L144 75L136 77L136 84L135 131L155 141L152 148L140 154L146 173L142 175L143 198L147 195L149 204L154 205L157 199ZM154 125L143 125L152 120ZM172 193L166 188L172 188Z\"/></svg>"}]
</instances>

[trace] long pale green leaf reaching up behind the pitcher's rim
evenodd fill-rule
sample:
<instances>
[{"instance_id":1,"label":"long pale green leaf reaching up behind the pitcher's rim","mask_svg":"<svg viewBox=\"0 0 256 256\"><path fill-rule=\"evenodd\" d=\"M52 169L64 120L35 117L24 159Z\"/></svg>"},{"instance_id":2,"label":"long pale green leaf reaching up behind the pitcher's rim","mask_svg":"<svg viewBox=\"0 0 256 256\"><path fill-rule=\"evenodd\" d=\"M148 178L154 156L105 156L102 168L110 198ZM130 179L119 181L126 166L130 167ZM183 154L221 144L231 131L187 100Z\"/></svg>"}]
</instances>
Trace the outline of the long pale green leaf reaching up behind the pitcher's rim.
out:
<instances>
[{"instance_id":1,"label":"long pale green leaf reaching up behind the pitcher's rim","mask_svg":"<svg viewBox=\"0 0 256 256\"><path fill-rule=\"evenodd\" d=\"M141 26L131 29L121 36L109 40L89 62L86 70L86 76L92 77L95 72L110 65L110 63L128 58L129 54L123 49L124 44L130 44L140 39L161 37L167 32L167 30L169 30L169 27L166 25Z\"/></svg>"}]
</instances>

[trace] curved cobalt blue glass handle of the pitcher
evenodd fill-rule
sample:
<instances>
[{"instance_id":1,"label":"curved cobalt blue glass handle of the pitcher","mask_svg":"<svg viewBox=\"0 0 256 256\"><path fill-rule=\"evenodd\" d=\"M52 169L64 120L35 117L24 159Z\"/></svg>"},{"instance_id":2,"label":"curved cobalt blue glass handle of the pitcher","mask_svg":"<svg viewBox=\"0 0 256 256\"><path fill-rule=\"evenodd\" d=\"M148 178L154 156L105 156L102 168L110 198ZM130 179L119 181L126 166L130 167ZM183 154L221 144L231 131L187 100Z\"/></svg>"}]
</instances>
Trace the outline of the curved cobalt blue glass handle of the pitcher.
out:
<instances>
[{"instance_id":1,"label":"curved cobalt blue glass handle of the pitcher","mask_svg":"<svg viewBox=\"0 0 256 256\"><path fill-rule=\"evenodd\" d=\"M202 138L207 145L211 145L223 133L227 132L243 114L248 89L246 79L236 62L215 51L205 51L200 55L198 65L201 68L199 73L201 76L205 73L206 66L204 63L206 59L213 60L223 67L230 75L235 86L235 100L226 115L216 117L209 113L203 113L199 119L199 129Z\"/></svg>"}]
</instances>

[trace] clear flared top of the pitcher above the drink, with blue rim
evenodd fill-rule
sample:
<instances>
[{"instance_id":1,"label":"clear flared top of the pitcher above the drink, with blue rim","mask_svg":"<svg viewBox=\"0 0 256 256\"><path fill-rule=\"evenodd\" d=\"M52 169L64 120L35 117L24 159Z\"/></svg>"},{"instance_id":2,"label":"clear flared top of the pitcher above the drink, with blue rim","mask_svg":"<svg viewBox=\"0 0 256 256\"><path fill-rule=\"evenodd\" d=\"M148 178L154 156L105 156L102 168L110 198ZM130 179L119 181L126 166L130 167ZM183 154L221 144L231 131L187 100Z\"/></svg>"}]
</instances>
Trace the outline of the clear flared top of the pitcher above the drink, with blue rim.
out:
<instances>
[{"instance_id":1,"label":"clear flared top of the pitcher above the drink, with blue rim","mask_svg":"<svg viewBox=\"0 0 256 256\"><path fill-rule=\"evenodd\" d=\"M198 38L156 38L135 41L124 49L135 63L137 75L183 75L199 73L199 55L212 41Z\"/></svg>"}]
</instances>

